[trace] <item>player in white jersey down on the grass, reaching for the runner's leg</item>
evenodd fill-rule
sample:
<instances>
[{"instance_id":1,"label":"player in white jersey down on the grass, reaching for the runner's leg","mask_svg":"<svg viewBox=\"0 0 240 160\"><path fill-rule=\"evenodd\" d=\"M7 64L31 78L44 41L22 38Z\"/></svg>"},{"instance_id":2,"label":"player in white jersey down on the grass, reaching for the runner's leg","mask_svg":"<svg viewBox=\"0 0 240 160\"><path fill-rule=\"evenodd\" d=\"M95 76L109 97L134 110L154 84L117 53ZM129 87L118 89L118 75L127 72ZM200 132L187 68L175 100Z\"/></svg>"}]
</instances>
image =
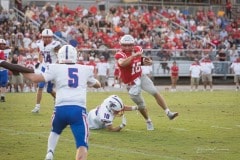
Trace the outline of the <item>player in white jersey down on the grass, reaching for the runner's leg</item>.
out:
<instances>
[{"instance_id":1,"label":"player in white jersey down on the grass, reaching for the runner's leg","mask_svg":"<svg viewBox=\"0 0 240 160\"><path fill-rule=\"evenodd\" d=\"M88 113L88 121L90 129L104 129L109 131L118 132L123 129L127 120L124 116L124 111L137 110L137 106L125 106L120 97L111 95L106 98L102 104L90 110ZM122 123L114 127L113 120L116 116L122 116Z\"/></svg>"}]
</instances>

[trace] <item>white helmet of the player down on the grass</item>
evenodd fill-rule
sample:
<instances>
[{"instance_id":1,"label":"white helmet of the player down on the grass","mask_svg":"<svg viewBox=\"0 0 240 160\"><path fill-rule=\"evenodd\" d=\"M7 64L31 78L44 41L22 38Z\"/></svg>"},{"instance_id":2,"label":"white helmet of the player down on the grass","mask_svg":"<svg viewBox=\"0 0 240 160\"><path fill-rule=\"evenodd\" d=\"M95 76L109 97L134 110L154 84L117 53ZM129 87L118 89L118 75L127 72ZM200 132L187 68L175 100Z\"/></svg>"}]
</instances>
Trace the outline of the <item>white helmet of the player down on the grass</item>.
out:
<instances>
[{"instance_id":1,"label":"white helmet of the player down on the grass","mask_svg":"<svg viewBox=\"0 0 240 160\"><path fill-rule=\"evenodd\" d=\"M110 110L113 114L122 115L124 111L124 104L122 102L122 99L116 95L109 96L105 101L105 104L107 104L108 110Z\"/></svg>"}]
</instances>

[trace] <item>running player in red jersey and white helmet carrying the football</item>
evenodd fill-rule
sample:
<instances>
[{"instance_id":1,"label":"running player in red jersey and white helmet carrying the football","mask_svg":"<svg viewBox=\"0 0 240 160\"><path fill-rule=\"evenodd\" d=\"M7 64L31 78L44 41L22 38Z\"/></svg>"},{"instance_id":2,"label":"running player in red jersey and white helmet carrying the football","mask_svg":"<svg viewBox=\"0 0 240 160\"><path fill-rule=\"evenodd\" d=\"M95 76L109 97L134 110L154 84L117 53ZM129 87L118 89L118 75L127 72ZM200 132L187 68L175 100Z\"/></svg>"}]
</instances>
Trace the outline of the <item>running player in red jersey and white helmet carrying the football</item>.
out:
<instances>
[{"instance_id":1,"label":"running player in red jersey and white helmet carrying the football","mask_svg":"<svg viewBox=\"0 0 240 160\"><path fill-rule=\"evenodd\" d=\"M148 116L146 104L141 95L141 90L153 95L158 105L165 111L170 120L178 116L177 112L171 112L164 98L158 93L152 80L142 74L141 65L151 65L152 60L143 56L140 46L135 46L135 40L131 35L124 35L120 39L121 50L115 54L115 59L120 69L122 82L127 85L128 93L139 108L147 122L147 130L154 130L153 123Z\"/></svg>"}]
</instances>

